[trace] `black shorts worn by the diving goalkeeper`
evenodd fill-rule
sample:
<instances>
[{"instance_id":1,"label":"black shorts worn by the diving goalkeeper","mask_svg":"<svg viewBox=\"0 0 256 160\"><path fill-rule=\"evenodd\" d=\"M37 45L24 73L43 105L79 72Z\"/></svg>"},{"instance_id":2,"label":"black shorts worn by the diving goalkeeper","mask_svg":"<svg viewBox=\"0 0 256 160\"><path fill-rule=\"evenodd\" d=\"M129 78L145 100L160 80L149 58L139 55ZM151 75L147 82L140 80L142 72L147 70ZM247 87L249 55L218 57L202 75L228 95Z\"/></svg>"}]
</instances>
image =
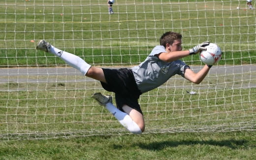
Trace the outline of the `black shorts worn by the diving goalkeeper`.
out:
<instances>
[{"instance_id":1,"label":"black shorts worn by the diving goalkeeper","mask_svg":"<svg viewBox=\"0 0 256 160\"><path fill-rule=\"evenodd\" d=\"M137 87L131 69L105 69L102 68L107 83L100 82L102 87L115 93L117 108L121 111L124 105L139 111L142 114L138 103L139 96L142 94Z\"/></svg>"}]
</instances>

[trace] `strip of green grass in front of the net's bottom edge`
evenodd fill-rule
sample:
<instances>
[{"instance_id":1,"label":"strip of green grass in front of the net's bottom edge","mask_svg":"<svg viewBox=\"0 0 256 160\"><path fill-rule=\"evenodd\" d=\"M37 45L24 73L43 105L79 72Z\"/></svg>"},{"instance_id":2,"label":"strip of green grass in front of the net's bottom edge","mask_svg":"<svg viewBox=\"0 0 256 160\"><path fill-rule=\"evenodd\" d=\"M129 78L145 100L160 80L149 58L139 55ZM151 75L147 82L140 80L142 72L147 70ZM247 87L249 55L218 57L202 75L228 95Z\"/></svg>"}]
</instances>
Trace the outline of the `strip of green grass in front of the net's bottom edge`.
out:
<instances>
[{"instance_id":1,"label":"strip of green grass in front of the net's bottom edge","mask_svg":"<svg viewBox=\"0 0 256 160\"><path fill-rule=\"evenodd\" d=\"M254 160L255 132L4 141L1 160Z\"/></svg>"}]
</instances>

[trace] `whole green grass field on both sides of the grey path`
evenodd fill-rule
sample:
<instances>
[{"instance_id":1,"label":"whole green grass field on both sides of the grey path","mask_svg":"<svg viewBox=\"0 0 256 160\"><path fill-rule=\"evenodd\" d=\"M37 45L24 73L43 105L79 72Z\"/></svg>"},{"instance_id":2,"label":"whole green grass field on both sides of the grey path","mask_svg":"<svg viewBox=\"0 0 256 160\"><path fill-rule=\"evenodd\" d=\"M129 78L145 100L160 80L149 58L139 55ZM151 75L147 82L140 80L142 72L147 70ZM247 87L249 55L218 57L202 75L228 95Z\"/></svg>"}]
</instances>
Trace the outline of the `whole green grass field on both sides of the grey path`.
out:
<instances>
[{"instance_id":1,"label":"whole green grass field on both sides of the grey path","mask_svg":"<svg viewBox=\"0 0 256 160\"><path fill-rule=\"evenodd\" d=\"M93 65L132 66L142 62L159 44L160 35L170 30L182 33L184 50L203 41L217 43L224 53L219 65L256 64L256 10L234 9L245 6L245 1L116 0L115 14L110 16L106 0L89 1L0 1L0 67L64 67L60 58L35 51L40 39ZM202 65L197 55L183 60ZM199 89L193 85L198 89L193 96L186 94L192 84L178 77L143 94L142 135L129 134L90 99L92 93L103 92L99 82L84 82L79 76L72 81L74 75L1 79L10 81L0 82L0 160L254 160L256 156L256 88L244 87L255 83L255 71L210 76ZM26 79L35 81L15 82ZM49 79L57 81L44 81Z\"/></svg>"}]
</instances>

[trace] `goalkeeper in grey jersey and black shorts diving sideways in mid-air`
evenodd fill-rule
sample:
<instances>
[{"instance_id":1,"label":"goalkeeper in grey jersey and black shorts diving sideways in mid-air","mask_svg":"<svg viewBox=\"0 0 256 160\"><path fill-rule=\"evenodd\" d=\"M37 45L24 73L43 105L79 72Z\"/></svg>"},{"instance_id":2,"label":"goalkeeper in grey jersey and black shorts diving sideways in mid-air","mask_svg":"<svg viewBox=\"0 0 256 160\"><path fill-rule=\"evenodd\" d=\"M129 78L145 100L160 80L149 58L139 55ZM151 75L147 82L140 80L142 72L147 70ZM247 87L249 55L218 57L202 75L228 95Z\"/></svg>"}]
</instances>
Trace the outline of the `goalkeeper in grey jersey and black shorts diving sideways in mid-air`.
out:
<instances>
[{"instance_id":1,"label":"goalkeeper in grey jersey and black shorts diving sideways in mid-air","mask_svg":"<svg viewBox=\"0 0 256 160\"><path fill-rule=\"evenodd\" d=\"M142 63L131 69L91 66L82 58L59 50L45 40L40 40L36 49L61 57L83 75L99 80L105 90L114 92L117 107L112 104L111 96L95 93L92 98L105 106L129 132L141 134L145 130L145 122L138 104L140 95L159 87L176 74L193 83L200 83L211 66L205 65L199 72L194 73L180 58L205 50L207 45L209 42L203 42L190 50L182 51L182 35L166 32L160 37L160 45L156 46Z\"/></svg>"}]
</instances>

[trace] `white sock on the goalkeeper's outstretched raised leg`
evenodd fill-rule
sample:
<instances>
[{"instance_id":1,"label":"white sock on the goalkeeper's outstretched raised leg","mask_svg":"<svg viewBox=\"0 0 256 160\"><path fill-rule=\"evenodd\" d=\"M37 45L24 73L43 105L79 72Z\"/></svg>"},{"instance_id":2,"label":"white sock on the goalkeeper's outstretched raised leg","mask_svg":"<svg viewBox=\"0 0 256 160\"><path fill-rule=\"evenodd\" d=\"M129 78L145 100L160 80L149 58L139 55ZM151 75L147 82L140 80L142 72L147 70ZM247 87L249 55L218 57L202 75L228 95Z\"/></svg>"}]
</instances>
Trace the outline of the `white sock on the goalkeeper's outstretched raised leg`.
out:
<instances>
[{"instance_id":1,"label":"white sock on the goalkeeper's outstretched raised leg","mask_svg":"<svg viewBox=\"0 0 256 160\"><path fill-rule=\"evenodd\" d=\"M79 56L77 56L75 54L64 52L62 50L59 50L59 49L55 48L54 46L51 46L50 53L53 53L56 56L61 57L71 67L74 67L74 68L78 69L83 74L83 76L85 76L85 74L91 68L91 65L86 63Z\"/></svg>"}]
</instances>

